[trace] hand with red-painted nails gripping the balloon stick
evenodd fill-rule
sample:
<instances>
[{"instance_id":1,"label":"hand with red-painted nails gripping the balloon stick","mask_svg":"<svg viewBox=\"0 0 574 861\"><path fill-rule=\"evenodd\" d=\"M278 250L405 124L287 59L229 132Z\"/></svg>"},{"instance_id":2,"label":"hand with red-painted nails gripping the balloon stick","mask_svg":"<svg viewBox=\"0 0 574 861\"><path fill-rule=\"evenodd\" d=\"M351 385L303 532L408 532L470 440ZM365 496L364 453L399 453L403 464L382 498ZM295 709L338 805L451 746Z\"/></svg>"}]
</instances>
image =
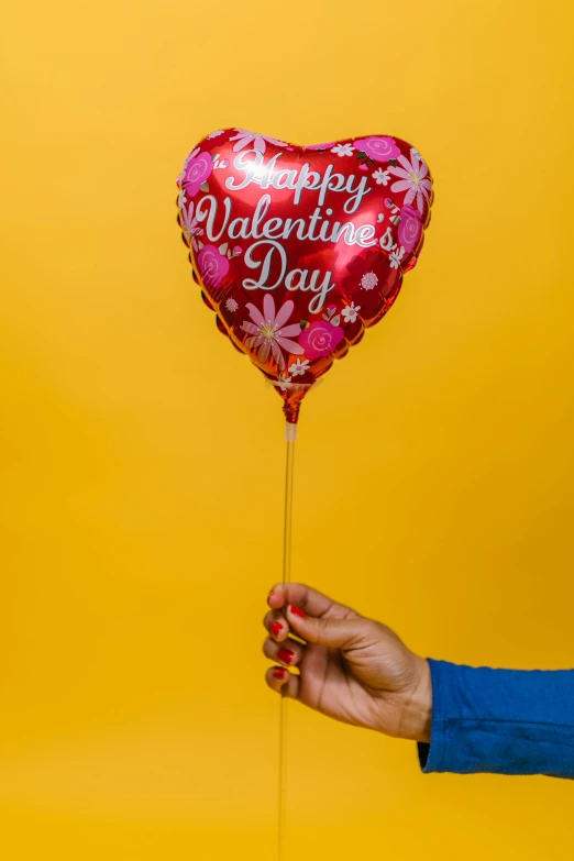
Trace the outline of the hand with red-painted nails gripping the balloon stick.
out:
<instances>
[{"instance_id":1,"label":"hand with red-painted nails gripping the balloon stick","mask_svg":"<svg viewBox=\"0 0 574 861\"><path fill-rule=\"evenodd\" d=\"M300 584L275 586L267 603L263 651L283 664L267 671L273 691L345 724L430 742L429 663L396 633ZM294 666L300 674L285 669Z\"/></svg>"}]
</instances>

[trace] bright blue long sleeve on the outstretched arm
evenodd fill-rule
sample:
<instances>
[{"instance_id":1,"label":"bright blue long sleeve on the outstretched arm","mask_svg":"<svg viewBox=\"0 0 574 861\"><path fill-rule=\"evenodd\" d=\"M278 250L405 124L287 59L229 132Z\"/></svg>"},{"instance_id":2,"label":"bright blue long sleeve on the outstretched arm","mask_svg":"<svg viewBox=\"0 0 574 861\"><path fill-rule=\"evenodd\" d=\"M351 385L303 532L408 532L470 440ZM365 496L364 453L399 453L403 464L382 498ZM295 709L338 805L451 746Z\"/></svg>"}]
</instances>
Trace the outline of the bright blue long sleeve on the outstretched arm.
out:
<instances>
[{"instance_id":1,"label":"bright blue long sleeve on the outstretched arm","mask_svg":"<svg viewBox=\"0 0 574 861\"><path fill-rule=\"evenodd\" d=\"M574 780L574 670L493 670L429 659L430 744L422 771Z\"/></svg>"}]
</instances>

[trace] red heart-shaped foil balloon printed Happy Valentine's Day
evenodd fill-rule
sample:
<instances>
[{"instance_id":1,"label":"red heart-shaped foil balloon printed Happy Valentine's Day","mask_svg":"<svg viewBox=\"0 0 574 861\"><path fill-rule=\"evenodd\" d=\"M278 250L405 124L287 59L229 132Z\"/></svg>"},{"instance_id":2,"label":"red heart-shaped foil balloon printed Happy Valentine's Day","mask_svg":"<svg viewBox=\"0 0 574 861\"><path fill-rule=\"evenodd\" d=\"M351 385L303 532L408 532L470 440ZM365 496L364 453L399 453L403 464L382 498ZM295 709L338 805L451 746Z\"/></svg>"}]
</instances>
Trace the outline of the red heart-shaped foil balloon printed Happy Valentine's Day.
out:
<instances>
[{"instance_id":1,"label":"red heart-shaped foil balloon printed Happy Valentine's Day","mask_svg":"<svg viewBox=\"0 0 574 861\"><path fill-rule=\"evenodd\" d=\"M417 262L433 198L426 162L388 135L294 146L228 129L192 150L177 185L203 300L297 422Z\"/></svg>"}]
</instances>

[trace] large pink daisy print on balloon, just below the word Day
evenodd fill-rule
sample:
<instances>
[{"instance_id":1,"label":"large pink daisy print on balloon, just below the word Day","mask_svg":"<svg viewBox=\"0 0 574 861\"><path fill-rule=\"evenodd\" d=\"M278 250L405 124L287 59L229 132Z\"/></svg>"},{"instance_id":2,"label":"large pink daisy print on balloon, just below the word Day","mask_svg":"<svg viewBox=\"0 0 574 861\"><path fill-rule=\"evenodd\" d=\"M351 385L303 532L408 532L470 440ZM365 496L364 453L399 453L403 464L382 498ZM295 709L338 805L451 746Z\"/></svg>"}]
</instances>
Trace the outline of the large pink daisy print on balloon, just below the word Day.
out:
<instances>
[{"instance_id":1,"label":"large pink daisy print on balloon, just below the word Day","mask_svg":"<svg viewBox=\"0 0 574 861\"><path fill-rule=\"evenodd\" d=\"M266 294L263 300L263 313L251 302L247 302L246 308L253 322L245 320L241 328L251 335L246 339L245 345L258 347L260 362L265 363L272 353L277 366L283 371L285 367L283 350L290 355L302 355L302 347L290 340L301 333L301 327L299 323L285 325L295 308L291 299L286 301L277 313L275 313L275 301L269 294Z\"/></svg>"}]
</instances>

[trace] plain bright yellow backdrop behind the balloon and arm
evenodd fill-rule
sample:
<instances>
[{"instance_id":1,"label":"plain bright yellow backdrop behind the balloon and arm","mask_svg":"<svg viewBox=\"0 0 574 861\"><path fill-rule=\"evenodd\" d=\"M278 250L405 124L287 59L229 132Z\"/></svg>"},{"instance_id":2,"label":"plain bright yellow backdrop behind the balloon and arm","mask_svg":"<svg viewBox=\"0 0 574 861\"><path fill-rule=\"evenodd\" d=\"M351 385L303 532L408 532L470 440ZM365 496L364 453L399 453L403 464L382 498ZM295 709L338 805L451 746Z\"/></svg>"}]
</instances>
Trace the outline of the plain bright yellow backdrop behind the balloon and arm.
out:
<instances>
[{"instance_id":1,"label":"plain bright yellow backdrop behind the balloon and arm","mask_svg":"<svg viewBox=\"0 0 574 861\"><path fill-rule=\"evenodd\" d=\"M564 0L20 0L2 23L0 845L268 861L280 402L176 227L206 133L396 133L424 253L303 405L294 576L422 654L574 664L572 13ZM290 858L572 850L573 788L426 776L294 706Z\"/></svg>"}]
</instances>

